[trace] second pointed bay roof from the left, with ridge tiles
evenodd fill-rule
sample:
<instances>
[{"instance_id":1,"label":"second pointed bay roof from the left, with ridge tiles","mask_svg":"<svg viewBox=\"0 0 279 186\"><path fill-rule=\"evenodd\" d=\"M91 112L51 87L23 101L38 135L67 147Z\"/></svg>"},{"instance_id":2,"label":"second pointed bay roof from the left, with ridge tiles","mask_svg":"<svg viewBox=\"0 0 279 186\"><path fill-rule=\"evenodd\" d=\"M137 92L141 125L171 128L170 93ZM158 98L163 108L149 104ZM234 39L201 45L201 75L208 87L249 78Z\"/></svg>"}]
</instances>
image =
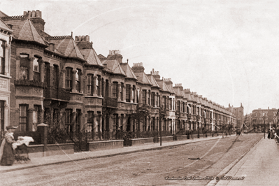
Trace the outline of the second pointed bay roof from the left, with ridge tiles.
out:
<instances>
[{"instance_id":1,"label":"second pointed bay roof from the left, with ridge tiles","mask_svg":"<svg viewBox=\"0 0 279 186\"><path fill-rule=\"evenodd\" d=\"M85 60L78 45L71 36L55 36L50 38L50 43L55 44L55 49L66 57L78 57Z\"/></svg>"}]
</instances>

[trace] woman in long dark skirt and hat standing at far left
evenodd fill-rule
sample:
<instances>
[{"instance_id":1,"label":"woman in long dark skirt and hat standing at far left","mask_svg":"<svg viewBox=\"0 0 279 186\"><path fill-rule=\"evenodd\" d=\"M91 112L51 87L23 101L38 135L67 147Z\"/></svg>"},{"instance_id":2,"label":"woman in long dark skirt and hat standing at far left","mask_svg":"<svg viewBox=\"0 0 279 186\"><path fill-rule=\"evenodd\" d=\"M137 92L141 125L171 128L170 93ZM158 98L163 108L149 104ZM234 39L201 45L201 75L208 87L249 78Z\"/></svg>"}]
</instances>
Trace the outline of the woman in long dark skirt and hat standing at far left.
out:
<instances>
[{"instance_id":1,"label":"woman in long dark skirt and hat standing at far left","mask_svg":"<svg viewBox=\"0 0 279 186\"><path fill-rule=\"evenodd\" d=\"M15 143L13 132L16 128L17 127L12 126L6 127L8 131L6 132L0 147L1 166L11 166L13 165L13 162L15 162L15 153L12 144Z\"/></svg>"}]
</instances>

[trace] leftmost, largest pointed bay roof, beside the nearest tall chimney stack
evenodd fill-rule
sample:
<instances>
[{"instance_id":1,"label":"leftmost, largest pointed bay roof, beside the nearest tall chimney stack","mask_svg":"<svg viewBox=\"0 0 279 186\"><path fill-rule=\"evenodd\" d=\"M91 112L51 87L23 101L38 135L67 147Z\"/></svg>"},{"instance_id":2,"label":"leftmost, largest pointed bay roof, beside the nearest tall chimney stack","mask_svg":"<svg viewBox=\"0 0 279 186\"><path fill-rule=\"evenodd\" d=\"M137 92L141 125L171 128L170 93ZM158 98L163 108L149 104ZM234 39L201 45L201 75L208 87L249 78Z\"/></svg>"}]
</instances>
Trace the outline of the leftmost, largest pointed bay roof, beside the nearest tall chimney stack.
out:
<instances>
[{"instance_id":1,"label":"leftmost, largest pointed bay roof, beside the nearest tall chimney stack","mask_svg":"<svg viewBox=\"0 0 279 186\"><path fill-rule=\"evenodd\" d=\"M45 45L45 41L43 41L41 34L38 33L31 20L6 20L5 23L13 25L13 36L15 38L23 41L34 41Z\"/></svg>"}]
</instances>

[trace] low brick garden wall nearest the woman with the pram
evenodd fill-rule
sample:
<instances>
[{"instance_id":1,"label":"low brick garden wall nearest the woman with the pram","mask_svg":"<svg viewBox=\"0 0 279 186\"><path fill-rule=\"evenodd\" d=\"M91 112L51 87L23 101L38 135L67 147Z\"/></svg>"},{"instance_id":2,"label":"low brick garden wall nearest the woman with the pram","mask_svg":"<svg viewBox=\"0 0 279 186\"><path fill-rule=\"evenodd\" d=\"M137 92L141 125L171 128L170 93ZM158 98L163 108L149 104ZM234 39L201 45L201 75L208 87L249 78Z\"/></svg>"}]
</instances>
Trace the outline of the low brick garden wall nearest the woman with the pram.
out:
<instances>
[{"instance_id":1,"label":"low brick garden wall nearest the woman with the pram","mask_svg":"<svg viewBox=\"0 0 279 186\"><path fill-rule=\"evenodd\" d=\"M30 159L32 157L73 154L73 143L48 145L48 150L45 150L44 145L29 145L28 152Z\"/></svg>"}]
</instances>

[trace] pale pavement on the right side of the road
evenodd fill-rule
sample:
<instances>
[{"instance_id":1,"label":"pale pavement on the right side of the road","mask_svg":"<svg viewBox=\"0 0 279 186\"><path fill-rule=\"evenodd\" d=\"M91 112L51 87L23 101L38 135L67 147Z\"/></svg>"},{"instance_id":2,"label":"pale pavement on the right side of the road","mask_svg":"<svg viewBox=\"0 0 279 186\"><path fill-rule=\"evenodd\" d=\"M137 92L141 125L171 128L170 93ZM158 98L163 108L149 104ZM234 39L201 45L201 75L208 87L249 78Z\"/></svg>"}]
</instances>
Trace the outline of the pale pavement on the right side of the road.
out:
<instances>
[{"instance_id":1,"label":"pale pavement on the right side of the road","mask_svg":"<svg viewBox=\"0 0 279 186\"><path fill-rule=\"evenodd\" d=\"M279 145L276 140L263 137L233 166L223 171L219 174L219 182L214 183L215 179L208 185L279 185ZM241 179L231 180L230 177Z\"/></svg>"}]
</instances>

